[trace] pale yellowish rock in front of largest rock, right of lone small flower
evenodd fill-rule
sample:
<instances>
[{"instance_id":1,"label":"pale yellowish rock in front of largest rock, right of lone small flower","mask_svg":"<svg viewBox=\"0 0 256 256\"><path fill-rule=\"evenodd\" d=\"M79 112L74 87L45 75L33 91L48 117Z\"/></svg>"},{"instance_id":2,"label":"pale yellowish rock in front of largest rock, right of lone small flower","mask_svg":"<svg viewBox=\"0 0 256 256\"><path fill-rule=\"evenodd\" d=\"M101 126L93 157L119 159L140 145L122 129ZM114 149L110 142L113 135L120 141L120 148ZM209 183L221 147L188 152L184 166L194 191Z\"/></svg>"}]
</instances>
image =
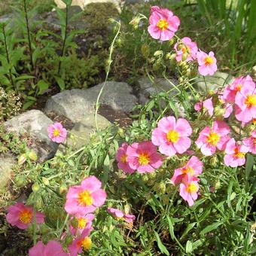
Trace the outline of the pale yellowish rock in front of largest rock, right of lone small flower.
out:
<instances>
[{"instance_id":1,"label":"pale yellowish rock in front of largest rock, right of lone small flower","mask_svg":"<svg viewBox=\"0 0 256 256\"><path fill-rule=\"evenodd\" d=\"M100 114L97 115L97 123L99 129L106 129L111 123ZM78 149L90 142L90 136L96 131L94 114L87 114L81 122L75 123L75 126L71 130L66 145L72 148ZM63 151L63 147L59 148Z\"/></svg>"}]
</instances>

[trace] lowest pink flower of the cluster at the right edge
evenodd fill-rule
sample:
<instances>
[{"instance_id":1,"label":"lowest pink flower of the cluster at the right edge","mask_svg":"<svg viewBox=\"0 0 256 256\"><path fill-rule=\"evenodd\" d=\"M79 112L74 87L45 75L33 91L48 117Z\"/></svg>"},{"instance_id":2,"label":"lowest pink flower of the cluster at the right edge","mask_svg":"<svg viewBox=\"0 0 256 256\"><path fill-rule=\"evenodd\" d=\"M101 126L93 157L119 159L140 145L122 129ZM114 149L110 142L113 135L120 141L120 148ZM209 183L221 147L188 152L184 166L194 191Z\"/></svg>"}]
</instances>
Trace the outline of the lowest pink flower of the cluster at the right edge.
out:
<instances>
[{"instance_id":1,"label":"lowest pink flower of the cluster at the right edge","mask_svg":"<svg viewBox=\"0 0 256 256\"><path fill-rule=\"evenodd\" d=\"M245 164L245 153L248 152L248 147L238 145L235 139L230 139L227 142L225 149L224 163L226 166L236 167Z\"/></svg>"}]
</instances>

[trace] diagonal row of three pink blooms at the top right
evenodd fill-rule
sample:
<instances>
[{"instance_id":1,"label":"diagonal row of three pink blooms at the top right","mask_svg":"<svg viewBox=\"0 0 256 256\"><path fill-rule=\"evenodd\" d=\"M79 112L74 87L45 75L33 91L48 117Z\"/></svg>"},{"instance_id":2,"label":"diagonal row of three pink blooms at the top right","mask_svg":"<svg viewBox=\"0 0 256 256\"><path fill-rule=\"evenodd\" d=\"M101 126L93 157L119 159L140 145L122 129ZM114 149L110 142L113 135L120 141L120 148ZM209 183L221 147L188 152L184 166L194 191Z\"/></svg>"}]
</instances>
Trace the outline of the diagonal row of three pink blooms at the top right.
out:
<instances>
[{"instance_id":1,"label":"diagonal row of three pink blooms at the top right","mask_svg":"<svg viewBox=\"0 0 256 256\"><path fill-rule=\"evenodd\" d=\"M151 16L149 17L148 32L154 39L168 41L173 38L178 30L180 20L173 15L172 11L158 6L151 7ZM181 38L175 44L175 59L180 62L190 62L197 60L198 72L200 75L214 75L217 71L217 60L212 51L205 53L198 49L197 43L188 37Z\"/></svg>"}]
</instances>

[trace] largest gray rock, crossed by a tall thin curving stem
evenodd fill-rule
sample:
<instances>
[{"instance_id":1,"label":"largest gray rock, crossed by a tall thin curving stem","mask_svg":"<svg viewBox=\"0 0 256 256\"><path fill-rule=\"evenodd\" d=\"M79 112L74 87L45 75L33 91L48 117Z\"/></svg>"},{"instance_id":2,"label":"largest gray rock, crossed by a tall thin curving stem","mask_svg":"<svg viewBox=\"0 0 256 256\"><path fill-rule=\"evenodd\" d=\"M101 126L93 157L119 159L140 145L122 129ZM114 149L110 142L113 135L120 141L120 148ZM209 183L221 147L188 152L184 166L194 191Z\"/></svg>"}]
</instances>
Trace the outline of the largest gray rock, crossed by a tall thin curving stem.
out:
<instances>
[{"instance_id":1,"label":"largest gray rock, crossed by a tall thin curving stem","mask_svg":"<svg viewBox=\"0 0 256 256\"><path fill-rule=\"evenodd\" d=\"M44 111L48 114L55 112L77 123L94 113L99 90L103 84L89 89L73 89L58 93L47 100ZM132 94L132 87L126 83L107 82L100 98L100 103L109 105L114 110L132 111L136 105L136 96Z\"/></svg>"}]
</instances>

